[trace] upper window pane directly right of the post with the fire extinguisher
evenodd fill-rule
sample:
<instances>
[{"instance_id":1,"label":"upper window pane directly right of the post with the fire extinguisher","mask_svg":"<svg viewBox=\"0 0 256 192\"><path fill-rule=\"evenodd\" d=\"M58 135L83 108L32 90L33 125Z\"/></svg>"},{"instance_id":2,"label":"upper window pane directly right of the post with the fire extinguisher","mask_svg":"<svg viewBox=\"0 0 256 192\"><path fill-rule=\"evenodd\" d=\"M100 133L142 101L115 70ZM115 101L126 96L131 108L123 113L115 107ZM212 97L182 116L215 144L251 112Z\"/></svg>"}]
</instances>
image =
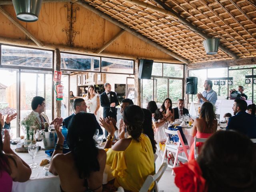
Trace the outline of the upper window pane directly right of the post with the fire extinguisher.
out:
<instances>
[{"instance_id":1,"label":"upper window pane directly right of the post with the fire extinguisher","mask_svg":"<svg viewBox=\"0 0 256 192\"><path fill-rule=\"evenodd\" d=\"M79 54L60 53L61 68L73 70L100 71L100 58Z\"/></svg>"}]
</instances>

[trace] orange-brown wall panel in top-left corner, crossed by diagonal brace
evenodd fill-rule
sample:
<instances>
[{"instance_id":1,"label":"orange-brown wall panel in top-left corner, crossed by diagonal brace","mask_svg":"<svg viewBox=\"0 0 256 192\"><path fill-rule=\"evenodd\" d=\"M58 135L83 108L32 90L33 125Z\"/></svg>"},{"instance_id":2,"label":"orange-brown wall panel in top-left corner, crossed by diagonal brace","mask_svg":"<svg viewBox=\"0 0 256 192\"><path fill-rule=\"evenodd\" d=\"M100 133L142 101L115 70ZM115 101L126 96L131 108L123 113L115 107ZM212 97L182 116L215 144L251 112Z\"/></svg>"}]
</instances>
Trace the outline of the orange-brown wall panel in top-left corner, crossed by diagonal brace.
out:
<instances>
[{"instance_id":1,"label":"orange-brown wall panel in top-left corner, crossed by diagonal brace","mask_svg":"<svg viewBox=\"0 0 256 192\"><path fill-rule=\"evenodd\" d=\"M3 6L4 10L16 18L16 14L12 5ZM19 20L18 20L19 21ZM19 21L24 27L26 23ZM21 32L6 16L0 13L0 36L8 38L26 39L26 35Z\"/></svg>"}]
</instances>

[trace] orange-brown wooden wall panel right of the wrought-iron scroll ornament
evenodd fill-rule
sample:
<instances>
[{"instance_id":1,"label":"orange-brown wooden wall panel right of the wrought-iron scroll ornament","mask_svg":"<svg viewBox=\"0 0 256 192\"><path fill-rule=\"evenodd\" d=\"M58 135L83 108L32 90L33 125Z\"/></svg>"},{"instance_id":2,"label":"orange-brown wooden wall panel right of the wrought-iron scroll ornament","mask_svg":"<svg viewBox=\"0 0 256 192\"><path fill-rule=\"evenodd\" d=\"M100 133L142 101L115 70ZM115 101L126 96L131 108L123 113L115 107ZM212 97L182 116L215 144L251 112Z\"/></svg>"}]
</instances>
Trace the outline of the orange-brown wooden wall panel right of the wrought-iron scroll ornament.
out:
<instances>
[{"instance_id":1,"label":"orange-brown wooden wall panel right of the wrought-iron scroll ornament","mask_svg":"<svg viewBox=\"0 0 256 192\"><path fill-rule=\"evenodd\" d=\"M74 6L76 5L74 4ZM97 50L103 45L105 20L89 10L79 7L74 30L79 31L80 34L74 40L75 46Z\"/></svg>"}]
</instances>

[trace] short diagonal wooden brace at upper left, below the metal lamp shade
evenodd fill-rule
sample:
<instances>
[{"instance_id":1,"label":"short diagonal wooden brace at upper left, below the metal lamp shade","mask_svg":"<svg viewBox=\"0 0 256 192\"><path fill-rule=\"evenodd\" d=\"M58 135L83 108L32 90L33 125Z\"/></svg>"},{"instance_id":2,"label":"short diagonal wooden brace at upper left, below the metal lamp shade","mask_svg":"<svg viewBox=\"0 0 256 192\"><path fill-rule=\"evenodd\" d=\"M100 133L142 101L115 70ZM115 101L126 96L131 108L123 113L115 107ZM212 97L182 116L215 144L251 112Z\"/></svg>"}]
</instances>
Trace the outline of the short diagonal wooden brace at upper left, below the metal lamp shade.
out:
<instances>
[{"instance_id":1,"label":"short diagonal wooden brace at upper left, below the metal lamp shade","mask_svg":"<svg viewBox=\"0 0 256 192\"><path fill-rule=\"evenodd\" d=\"M22 24L20 24L8 12L6 12L2 6L0 6L0 12L4 16L6 16L10 20L10 22L12 22L12 24L14 24L18 29L20 29L24 34L26 34L26 36L28 36L28 38L30 38L32 41L34 41L35 44L37 44L39 47L44 46L44 44L42 42L40 42L38 39L36 39L36 37L34 35L32 35L30 32L28 32L28 30L24 26L22 26Z\"/></svg>"}]
</instances>

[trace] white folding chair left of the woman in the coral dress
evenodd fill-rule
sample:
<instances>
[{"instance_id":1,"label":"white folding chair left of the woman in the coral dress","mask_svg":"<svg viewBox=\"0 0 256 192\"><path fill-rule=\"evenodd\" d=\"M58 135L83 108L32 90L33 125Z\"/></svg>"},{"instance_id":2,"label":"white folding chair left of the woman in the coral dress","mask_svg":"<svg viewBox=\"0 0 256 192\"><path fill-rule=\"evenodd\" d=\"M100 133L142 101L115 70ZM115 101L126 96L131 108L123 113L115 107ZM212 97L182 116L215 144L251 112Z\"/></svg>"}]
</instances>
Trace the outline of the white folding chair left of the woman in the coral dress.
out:
<instances>
[{"instance_id":1,"label":"white folding chair left of the woman in the coral dress","mask_svg":"<svg viewBox=\"0 0 256 192\"><path fill-rule=\"evenodd\" d=\"M167 151L171 151L175 154L173 166L168 164L168 167L170 167L170 168L174 168L176 166L176 164L178 165L178 158L188 161L188 152L187 152L187 150L189 149L189 146L184 144L184 141L182 140L182 136L180 134L180 131L179 130L171 131L171 130L168 130L168 129L164 129L164 131L167 134L178 135L179 141L178 141L177 144L171 144L170 143L170 136L167 137L166 143L165 143L165 148L164 148L164 154L162 156L162 164L164 163L165 154L166 154ZM182 152L185 153L186 157L183 157L183 156L179 155ZM172 170L172 175L173 175L173 173L174 173L174 171Z\"/></svg>"}]
</instances>

